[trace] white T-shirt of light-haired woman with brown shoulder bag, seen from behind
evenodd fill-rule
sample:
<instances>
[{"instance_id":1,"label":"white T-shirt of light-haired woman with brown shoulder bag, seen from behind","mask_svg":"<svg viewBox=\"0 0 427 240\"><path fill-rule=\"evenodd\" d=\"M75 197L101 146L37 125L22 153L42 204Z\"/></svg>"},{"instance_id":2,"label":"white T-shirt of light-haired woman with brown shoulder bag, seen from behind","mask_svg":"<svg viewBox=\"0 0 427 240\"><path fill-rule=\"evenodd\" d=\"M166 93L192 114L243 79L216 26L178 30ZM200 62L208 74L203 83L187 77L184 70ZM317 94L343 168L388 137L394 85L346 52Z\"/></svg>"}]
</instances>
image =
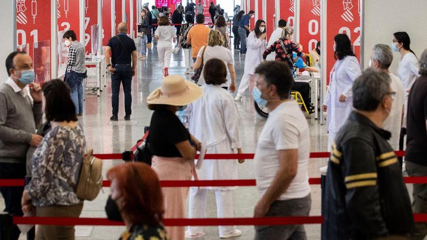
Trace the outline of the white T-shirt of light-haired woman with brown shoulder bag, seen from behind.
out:
<instances>
[{"instance_id":1,"label":"white T-shirt of light-haired woman with brown shoulder bag, seen from behind","mask_svg":"<svg viewBox=\"0 0 427 240\"><path fill-rule=\"evenodd\" d=\"M200 48L200 50L197 53L197 58L202 57L203 49L205 49L205 47ZM208 46L208 48L206 48L205 54L203 55L203 64L206 64L206 62L208 62L210 59L213 59L213 58L217 58L222 62L224 62L227 69L228 69L228 64L233 64L233 55L231 54L230 49L224 48L222 46L213 46L213 47ZM200 75L200 78L197 82L197 84L199 85L206 84L205 79L203 78L204 70L205 69L203 68L202 74ZM227 79L230 79L229 76L230 76L230 72L227 71ZM228 87L228 82L221 84L221 87Z\"/></svg>"}]
</instances>

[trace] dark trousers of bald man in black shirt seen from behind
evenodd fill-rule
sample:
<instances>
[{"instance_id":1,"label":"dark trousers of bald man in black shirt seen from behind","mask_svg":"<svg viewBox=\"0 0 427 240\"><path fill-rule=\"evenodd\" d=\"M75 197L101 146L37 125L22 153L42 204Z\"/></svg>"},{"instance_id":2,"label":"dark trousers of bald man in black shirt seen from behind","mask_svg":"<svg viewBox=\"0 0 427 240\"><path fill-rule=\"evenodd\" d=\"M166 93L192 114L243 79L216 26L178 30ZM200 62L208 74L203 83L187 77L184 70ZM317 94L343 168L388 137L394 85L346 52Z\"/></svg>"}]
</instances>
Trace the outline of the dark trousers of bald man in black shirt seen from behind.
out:
<instances>
[{"instance_id":1,"label":"dark trousers of bald man in black shirt seen from behind","mask_svg":"<svg viewBox=\"0 0 427 240\"><path fill-rule=\"evenodd\" d=\"M131 64L116 64L114 65L115 72L111 74L111 89L113 96L111 96L111 104L113 107L113 115L118 115L118 94L120 93L120 82L123 85L123 92L125 94L125 113L126 115L132 114L132 67Z\"/></svg>"}]
</instances>

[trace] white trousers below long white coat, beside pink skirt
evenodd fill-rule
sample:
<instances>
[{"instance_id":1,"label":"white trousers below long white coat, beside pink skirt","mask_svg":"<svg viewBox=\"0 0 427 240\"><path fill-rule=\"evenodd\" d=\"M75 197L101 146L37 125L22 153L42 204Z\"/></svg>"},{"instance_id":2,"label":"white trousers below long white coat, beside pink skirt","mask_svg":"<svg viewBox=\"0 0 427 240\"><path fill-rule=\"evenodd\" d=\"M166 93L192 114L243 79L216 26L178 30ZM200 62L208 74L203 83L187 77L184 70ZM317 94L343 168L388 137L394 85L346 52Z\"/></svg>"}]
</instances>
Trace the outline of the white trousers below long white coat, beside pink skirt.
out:
<instances>
[{"instance_id":1,"label":"white trousers below long white coat, beside pink skirt","mask_svg":"<svg viewBox=\"0 0 427 240\"><path fill-rule=\"evenodd\" d=\"M206 218L206 201L208 189L190 188L189 218ZM215 190L216 210L218 218L233 218L233 192L227 190ZM219 235L227 235L234 231L234 226L218 226ZM189 226L190 234L203 232L202 227Z\"/></svg>"}]
</instances>

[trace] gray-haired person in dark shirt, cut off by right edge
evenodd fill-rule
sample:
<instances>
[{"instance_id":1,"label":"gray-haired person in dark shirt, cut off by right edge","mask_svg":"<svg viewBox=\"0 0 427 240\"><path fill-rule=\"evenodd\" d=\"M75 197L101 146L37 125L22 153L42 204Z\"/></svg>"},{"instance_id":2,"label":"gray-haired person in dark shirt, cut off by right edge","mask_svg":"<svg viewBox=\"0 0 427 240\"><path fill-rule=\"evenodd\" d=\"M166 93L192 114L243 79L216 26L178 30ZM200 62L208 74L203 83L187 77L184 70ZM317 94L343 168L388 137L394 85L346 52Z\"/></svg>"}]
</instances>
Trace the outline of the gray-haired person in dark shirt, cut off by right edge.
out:
<instances>
[{"instance_id":1,"label":"gray-haired person in dark shirt, cut off by right edge","mask_svg":"<svg viewBox=\"0 0 427 240\"><path fill-rule=\"evenodd\" d=\"M409 176L427 176L427 49L420 58L420 77L412 85L408 97L406 170ZM412 210L427 213L427 184L413 185ZM424 239L427 224L415 224L415 238Z\"/></svg>"}]
</instances>

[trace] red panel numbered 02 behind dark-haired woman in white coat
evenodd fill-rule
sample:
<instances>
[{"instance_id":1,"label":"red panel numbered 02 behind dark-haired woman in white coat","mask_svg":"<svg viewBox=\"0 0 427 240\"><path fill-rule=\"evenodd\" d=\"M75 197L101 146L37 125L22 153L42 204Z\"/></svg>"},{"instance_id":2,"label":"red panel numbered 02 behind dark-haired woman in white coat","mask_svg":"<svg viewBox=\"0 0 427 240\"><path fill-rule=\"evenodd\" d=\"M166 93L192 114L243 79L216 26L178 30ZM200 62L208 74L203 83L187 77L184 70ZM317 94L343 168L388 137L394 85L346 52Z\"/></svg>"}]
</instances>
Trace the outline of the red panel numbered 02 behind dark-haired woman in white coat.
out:
<instances>
[{"instance_id":1,"label":"red panel numbered 02 behind dark-haired woman in white coat","mask_svg":"<svg viewBox=\"0 0 427 240\"><path fill-rule=\"evenodd\" d=\"M329 72L335 63L333 54L334 37L338 33L345 33L354 46L354 53L360 60L360 2L358 0L328 0L327 13L327 84Z\"/></svg>"}]
</instances>

